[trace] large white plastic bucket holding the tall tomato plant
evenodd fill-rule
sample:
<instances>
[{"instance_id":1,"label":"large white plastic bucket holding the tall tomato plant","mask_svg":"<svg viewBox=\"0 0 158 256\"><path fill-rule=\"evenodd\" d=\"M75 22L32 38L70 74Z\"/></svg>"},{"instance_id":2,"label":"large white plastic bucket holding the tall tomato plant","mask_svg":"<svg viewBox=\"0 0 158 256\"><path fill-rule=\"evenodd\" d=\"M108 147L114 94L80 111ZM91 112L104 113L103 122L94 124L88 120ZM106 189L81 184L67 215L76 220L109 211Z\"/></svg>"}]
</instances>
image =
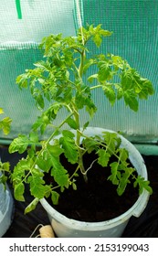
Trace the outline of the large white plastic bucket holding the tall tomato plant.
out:
<instances>
[{"instance_id":1,"label":"large white plastic bucket holding the tall tomato plant","mask_svg":"<svg viewBox=\"0 0 158 256\"><path fill-rule=\"evenodd\" d=\"M100 129L100 128L88 128L85 131L85 134L100 135L102 132L111 132L110 130ZM121 135L119 135L121 136ZM129 151L129 157L132 162L132 165L135 167L136 171L139 175L143 176L144 179L147 179L147 171L146 166L144 165L144 161L142 159L142 155L139 151L124 137L121 136L121 147L126 148ZM58 237L63 238L83 238L83 237L121 237L123 230L125 229L129 219L134 217L140 217L142 211L147 205L149 199L149 193L144 190L142 195L138 197L135 204L127 210L125 213L121 214L121 216L100 221L100 222L84 222L75 219L68 219L62 214L58 213L58 211L52 208L45 198L41 199L40 202L42 206L47 210L48 218L50 219L52 228ZM107 206L108 207L108 206Z\"/></svg>"}]
</instances>

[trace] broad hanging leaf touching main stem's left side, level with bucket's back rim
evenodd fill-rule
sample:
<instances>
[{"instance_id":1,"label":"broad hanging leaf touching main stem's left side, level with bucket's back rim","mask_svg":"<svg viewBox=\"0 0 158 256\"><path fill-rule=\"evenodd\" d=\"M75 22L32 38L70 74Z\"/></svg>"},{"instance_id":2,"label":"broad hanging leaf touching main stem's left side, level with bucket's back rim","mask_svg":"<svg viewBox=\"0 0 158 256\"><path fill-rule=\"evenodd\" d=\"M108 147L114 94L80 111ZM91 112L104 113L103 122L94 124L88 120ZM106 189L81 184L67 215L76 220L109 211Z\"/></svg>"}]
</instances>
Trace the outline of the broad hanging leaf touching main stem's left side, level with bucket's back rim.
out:
<instances>
[{"instance_id":1,"label":"broad hanging leaf touching main stem's left side, level with bucket's back rim","mask_svg":"<svg viewBox=\"0 0 158 256\"><path fill-rule=\"evenodd\" d=\"M64 155L68 158L68 162L75 164L78 161L78 148L75 144L74 133L64 130L62 132L62 137L59 139L59 144L61 144L64 149Z\"/></svg>"}]
</instances>

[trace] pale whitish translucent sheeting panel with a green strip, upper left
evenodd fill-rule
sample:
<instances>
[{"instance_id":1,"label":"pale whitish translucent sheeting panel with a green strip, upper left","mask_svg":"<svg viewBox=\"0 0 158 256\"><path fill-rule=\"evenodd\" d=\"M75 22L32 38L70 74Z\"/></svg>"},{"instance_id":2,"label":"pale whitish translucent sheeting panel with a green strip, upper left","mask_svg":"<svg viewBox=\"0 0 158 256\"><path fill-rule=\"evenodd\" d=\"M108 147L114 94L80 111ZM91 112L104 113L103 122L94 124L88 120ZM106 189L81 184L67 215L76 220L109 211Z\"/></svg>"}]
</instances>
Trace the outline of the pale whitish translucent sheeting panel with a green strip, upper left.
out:
<instances>
[{"instance_id":1,"label":"pale whitish translucent sheeting panel with a green strip, upper left","mask_svg":"<svg viewBox=\"0 0 158 256\"><path fill-rule=\"evenodd\" d=\"M74 35L73 10L74 0L0 0L0 42L40 42L59 32Z\"/></svg>"}]
</instances>

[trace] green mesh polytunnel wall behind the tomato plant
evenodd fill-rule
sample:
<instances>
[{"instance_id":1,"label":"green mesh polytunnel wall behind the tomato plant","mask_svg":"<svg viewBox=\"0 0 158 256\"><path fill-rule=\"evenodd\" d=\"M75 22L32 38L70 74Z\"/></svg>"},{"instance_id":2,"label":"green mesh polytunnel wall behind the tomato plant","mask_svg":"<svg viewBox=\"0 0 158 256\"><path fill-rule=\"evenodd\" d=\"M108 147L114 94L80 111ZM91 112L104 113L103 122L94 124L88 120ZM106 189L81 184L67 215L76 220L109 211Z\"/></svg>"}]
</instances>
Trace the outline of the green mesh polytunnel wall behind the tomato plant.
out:
<instances>
[{"instance_id":1,"label":"green mesh polytunnel wall behind the tomato plant","mask_svg":"<svg viewBox=\"0 0 158 256\"><path fill-rule=\"evenodd\" d=\"M39 111L28 91L18 89L16 76L42 58L38 49L42 37L58 33L75 36L78 27L87 23L113 31L100 52L127 59L155 89L148 101L140 101L138 112L129 110L123 101L111 108L101 93L94 93L99 111L91 126L121 131L135 143L157 143L157 0L0 0L0 107L13 119L9 136L0 133L2 143L18 133L28 133L37 118ZM96 50L93 45L90 48Z\"/></svg>"}]
</instances>

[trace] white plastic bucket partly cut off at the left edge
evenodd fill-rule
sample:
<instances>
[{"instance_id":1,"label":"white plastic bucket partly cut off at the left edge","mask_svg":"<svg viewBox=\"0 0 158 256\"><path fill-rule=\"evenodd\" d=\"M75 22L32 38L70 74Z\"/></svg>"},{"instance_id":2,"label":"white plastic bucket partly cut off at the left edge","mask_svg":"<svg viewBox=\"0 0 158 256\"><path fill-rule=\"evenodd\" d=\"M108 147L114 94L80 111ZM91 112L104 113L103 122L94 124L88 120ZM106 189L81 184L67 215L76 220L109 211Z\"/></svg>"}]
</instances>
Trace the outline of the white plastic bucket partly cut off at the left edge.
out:
<instances>
[{"instance_id":1,"label":"white plastic bucket partly cut off at the left edge","mask_svg":"<svg viewBox=\"0 0 158 256\"><path fill-rule=\"evenodd\" d=\"M9 228L13 214L13 198L9 188L0 184L0 237L3 237Z\"/></svg>"}]
</instances>

